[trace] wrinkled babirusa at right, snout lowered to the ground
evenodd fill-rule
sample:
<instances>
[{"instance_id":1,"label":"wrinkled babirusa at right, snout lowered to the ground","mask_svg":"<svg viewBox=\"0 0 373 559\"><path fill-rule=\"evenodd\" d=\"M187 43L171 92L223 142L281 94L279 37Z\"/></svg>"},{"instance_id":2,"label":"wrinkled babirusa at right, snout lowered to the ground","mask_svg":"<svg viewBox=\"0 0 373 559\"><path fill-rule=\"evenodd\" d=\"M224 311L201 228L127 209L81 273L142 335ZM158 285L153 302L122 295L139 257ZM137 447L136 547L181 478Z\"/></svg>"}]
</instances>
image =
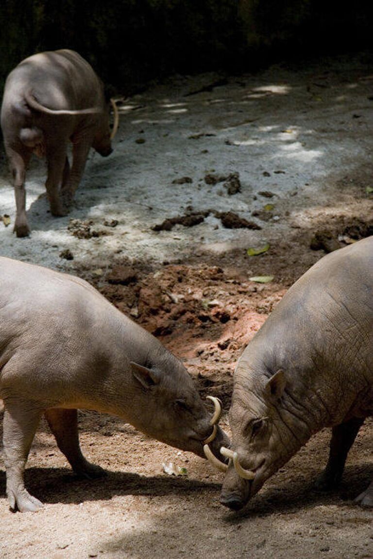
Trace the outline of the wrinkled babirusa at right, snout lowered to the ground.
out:
<instances>
[{"instance_id":1,"label":"wrinkled babirusa at right, snout lowered to the ground","mask_svg":"<svg viewBox=\"0 0 373 559\"><path fill-rule=\"evenodd\" d=\"M332 427L320 489L341 480L373 414L373 237L322 258L290 288L239 359L229 423L231 465L221 503L242 508L313 435ZM373 482L356 499L373 506Z\"/></svg>"}]
</instances>

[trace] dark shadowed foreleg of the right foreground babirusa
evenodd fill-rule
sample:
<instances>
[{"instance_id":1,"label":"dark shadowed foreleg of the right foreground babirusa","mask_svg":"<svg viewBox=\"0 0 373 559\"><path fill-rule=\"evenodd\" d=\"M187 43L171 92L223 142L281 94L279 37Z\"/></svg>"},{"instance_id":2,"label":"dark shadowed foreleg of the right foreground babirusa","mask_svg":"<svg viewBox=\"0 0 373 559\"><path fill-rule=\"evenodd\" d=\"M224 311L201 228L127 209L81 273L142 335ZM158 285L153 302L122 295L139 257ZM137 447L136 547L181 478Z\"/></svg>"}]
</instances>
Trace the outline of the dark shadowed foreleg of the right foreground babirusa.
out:
<instances>
[{"instance_id":1,"label":"dark shadowed foreleg of the right foreground babirusa","mask_svg":"<svg viewBox=\"0 0 373 559\"><path fill-rule=\"evenodd\" d=\"M352 418L333 427L328 463L316 482L317 489L328 491L339 484L348 451L363 423L364 419Z\"/></svg>"}]
</instances>

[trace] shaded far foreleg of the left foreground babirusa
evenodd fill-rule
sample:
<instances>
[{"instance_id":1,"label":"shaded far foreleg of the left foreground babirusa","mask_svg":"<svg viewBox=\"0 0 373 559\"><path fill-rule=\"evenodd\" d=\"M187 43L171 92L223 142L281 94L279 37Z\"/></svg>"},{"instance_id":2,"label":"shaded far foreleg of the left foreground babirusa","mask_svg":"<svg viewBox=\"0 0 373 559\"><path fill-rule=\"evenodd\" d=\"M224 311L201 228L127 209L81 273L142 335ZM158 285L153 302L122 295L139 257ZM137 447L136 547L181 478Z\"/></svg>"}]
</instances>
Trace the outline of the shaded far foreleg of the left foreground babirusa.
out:
<instances>
[{"instance_id":1,"label":"shaded far foreleg of the left foreground babirusa","mask_svg":"<svg viewBox=\"0 0 373 559\"><path fill-rule=\"evenodd\" d=\"M79 446L78 413L75 409L50 408L44 413L58 448L68 459L75 473L93 479L105 475L100 466L89 463Z\"/></svg>"}]
</instances>

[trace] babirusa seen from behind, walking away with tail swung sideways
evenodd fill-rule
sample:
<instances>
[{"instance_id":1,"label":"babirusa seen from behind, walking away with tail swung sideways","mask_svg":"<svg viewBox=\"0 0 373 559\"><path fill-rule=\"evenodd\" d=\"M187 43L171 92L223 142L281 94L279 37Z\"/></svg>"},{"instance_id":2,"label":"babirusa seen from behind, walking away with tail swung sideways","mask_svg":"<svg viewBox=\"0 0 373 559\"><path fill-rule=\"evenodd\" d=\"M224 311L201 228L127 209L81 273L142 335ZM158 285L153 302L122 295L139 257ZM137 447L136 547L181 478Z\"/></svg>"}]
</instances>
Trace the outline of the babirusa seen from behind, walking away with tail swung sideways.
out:
<instances>
[{"instance_id":1,"label":"babirusa seen from behind, walking away with tail swung sideways","mask_svg":"<svg viewBox=\"0 0 373 559\"><path fill-rule=\"evenodd\" d=\"M87 109L93 111L79 114ZM75 113L50 114L45 110ZM46 157L45 188L50 211L54 216L63 216L81 181L89 148L92 146L104 157L112 151L102 83L87 61L72 50L35 54L18 64L6 80L1 127L15 188L18 237L30 232L25 177L32 154ZM73 144L71 168L67 158L69 141Z\"/></svg>"}]
</instances>

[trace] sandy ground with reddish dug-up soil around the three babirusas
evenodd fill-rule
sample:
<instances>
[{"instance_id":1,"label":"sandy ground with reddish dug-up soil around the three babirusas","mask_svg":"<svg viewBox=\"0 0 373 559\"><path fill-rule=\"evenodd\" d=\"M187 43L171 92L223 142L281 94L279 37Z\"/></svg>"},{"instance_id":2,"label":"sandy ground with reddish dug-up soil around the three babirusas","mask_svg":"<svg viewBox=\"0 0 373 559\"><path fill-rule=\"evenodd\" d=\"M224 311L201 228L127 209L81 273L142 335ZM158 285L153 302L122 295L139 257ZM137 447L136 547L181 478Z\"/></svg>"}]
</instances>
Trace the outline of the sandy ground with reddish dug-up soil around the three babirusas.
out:
<instances>
[{"instance_id":1,"label":"sandy ground with reddish dug-up soil around the three babirusas","mask_svg":"<svg viewBox=\"0 0 373 559\"><path fill-rule=\"evenodd\" d=\"M183 358L226 412L235 361L287 287L325 251L373 234L372 107L363 55L174 77L121 102L114 154L91 155L68 217L50 216L44 164L31 163L29 239L12 235L2 160L0 215L11 225L0 222L0 253L87 278ZM273 280L249 280L257 275ZM80 426L84 453L108 476L78 480L42 424L26 481L43 510L11 514L0 472L2 558L373 557L372 513L353 504L373 473L371 421L338 491L313 489L325 431L241 513L219 505L222 475L200 458L108 416L82 411ZM164 473L166 461L187 477Z\"/></svg>"}]
</instances>

